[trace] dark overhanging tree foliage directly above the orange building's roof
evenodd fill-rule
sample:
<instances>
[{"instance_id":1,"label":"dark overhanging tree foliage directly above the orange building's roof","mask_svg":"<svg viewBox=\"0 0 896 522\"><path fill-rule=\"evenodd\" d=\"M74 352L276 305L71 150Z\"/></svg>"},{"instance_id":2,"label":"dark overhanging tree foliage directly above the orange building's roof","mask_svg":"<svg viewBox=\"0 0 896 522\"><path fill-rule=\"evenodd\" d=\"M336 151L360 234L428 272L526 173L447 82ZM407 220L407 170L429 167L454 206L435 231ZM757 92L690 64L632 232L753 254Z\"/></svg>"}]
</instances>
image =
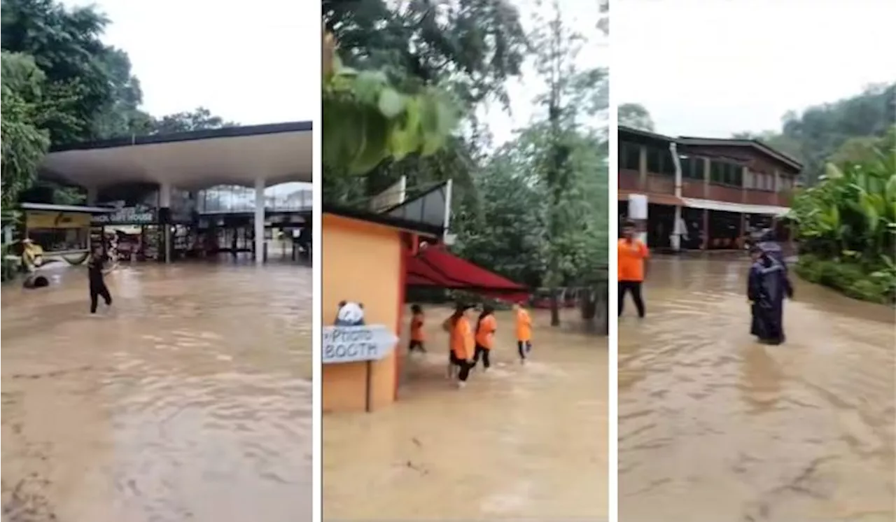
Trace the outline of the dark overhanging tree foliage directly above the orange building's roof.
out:
<instances>
[{"instance_id":1,"label":"dark overhanging tree foliage directly above the orange building's roof","mask_svg":"<svg viewBox=\"0 0 896 522\"><path fill-rule=\"evenodd\" d=\"M370 73L368 79L375 86L364 97L367 101L361 104L363 107L353 107L352 95L346 97L348 100L331 103L336 98L334 93L324 92L324 201L363 201L401 175L407 175L411 187L453 179L458 189L455 195L459 196L453 198L456 207L463 193L472 190L472 174L478 168L477 154L473 151L485 144L478 136L475 109L479 102L491 98L506 103L505 81L520 73L528 44L519 13L505 0L443 3L410 0L401 5L383 0L327 0L322 7L325 28L338 40L345 65L349 70ZM332 51L327 48L332 43L323 43L323 64L327 68L332 61ZM325 74L324 81L328 77ZM369 84L360 83L359 90L366 90ZM440 136L432 130L423 132L417 126L415 137L410 132L415 128L413 120L417 119L412 113L405 110L405 114L391 120L383 116L380 98L385 98L387 109L389 98L397 101L392 94L383 95L384 90L394 91L398 98L418 98L405 104L411 111L441 106L441 109L428 110L435 116L450 118L435 128L448 128L451 120L460 116L462 129L472 129L472 133L458 133L456 125L452 125L451 133ZM342 110L351 112L352 116L340 117ZM386 131L365 139L364 147L369 147L371 152L361 153L358 165L349 166L347 163L352 158L341 157L339 151L343 146L337 144L343 143L345 150L360 150L360 131L354 122L362 119L364 129L386 128ZM390 126L400 132L388 134ZM426 151L434 149L437 141L442 141L442 145L428 156L407 152L414 145L419 145L417 150L422 152L426 141L430 142ZM381 160L375 167L367 169L377 158ZM349 169L367 170L363 175L351 175Z\"/></svg>"}]
</instances>

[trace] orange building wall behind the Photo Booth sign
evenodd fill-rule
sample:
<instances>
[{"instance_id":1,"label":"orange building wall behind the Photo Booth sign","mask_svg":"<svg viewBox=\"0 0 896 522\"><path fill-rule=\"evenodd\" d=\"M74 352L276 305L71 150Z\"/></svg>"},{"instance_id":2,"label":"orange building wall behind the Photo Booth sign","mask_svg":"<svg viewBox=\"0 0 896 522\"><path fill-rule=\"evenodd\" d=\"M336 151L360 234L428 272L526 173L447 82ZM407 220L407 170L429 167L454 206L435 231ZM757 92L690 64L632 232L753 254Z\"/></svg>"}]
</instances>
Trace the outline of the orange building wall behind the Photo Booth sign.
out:
<instances>
[{"instance_id":1,"label":"orange building wall behind the Photo Booth sign","mask_svg":"<svg viewBox=\"0 0 896 522\"><path fill-rule=\"evenodd\" d=\"M324 214L321 222L321 288L324 325L342 300L364 304L367 324L398 324L401 299L401 232ZM364 411L366 363L323 365L323 411ZM371 409L395 398L395 351L373 363Z\"/></svg>"}]
</instances>

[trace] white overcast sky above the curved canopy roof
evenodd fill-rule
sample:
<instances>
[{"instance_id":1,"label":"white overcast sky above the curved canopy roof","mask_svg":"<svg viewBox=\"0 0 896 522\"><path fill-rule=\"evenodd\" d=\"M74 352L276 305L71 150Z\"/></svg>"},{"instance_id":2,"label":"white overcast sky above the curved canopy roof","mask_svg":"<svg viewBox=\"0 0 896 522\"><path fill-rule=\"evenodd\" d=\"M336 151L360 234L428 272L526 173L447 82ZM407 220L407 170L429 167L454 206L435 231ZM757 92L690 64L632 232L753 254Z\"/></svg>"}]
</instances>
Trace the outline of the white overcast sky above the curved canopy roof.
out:
<instances>
[{"instance_id":1,"label":"white overcast sky above the curved canopy roof","mask_svg":"<svg viewBox=\"0 0 896 522\"><path fill-rule=\"evenodd\" d=\"M153 116L208 107L240 124L319 112L320 7L310 0L67 0L96 4ZM311 14L311 15L309 15Z\"/></svg>"}]
</instances>

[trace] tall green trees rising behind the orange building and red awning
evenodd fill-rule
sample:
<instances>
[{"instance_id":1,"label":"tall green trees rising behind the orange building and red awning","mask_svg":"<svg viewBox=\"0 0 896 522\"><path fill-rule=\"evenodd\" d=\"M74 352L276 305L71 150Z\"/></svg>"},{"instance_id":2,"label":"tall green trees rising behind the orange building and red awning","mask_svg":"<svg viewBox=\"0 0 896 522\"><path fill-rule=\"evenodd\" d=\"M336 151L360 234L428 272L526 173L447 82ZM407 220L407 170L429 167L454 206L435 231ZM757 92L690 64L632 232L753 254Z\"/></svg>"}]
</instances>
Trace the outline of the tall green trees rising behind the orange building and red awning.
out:
<instances>
[{"instance_id":1,"label":"tall green trees rising behind the orange building and red awning","mask_svg":"<svg viewBox=\"0 0 896 522\"><path fill-rule=\"evenodd\" d=\"M577 65L585 40L556 3L537 14L531 31L504 0L324 2L323 15L339 46L334 68L376 73L369 81L377 96L358 97L365 110L389 116L379 101L394 90L408 98L442 95L460 118L440 129L449 132L428 150L383 146L392 143L387 122L376 138L383 153L351 169L355 174L335 168L350 157L345 151L325 159L324 201L364 204L402 175L411 193L452 179L453 252L530 287L587 286L606 277L607 72ZM509 107L507 81L527 60L534 72L526 81L542 86L530 100L537 114L495 147L477 108L495 100ZM351 132L345 122L355 121L336 116L324 107L325 147L326 136Z\"/></svg>"}]
</instances>

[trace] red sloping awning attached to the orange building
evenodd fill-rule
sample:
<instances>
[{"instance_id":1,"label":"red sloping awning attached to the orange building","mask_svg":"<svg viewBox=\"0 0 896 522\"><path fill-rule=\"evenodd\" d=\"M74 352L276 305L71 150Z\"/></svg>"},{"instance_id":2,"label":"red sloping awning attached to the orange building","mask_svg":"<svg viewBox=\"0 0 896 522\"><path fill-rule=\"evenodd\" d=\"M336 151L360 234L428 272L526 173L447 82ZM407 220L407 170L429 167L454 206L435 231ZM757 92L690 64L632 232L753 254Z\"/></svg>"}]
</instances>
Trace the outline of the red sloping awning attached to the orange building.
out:
<instances>
[{"instance_id":1,"label":"red sloping awning attached to the orange building","mask_svg":"<svg viewBox=\"0 0 896 522\"><path fill-rule=\"evenodd\" d=\"M466 290L513 302L529 298L526 287L462 260L438 246L409 255L405 267L409 286Z\"/></svg>"}]
</instances>

